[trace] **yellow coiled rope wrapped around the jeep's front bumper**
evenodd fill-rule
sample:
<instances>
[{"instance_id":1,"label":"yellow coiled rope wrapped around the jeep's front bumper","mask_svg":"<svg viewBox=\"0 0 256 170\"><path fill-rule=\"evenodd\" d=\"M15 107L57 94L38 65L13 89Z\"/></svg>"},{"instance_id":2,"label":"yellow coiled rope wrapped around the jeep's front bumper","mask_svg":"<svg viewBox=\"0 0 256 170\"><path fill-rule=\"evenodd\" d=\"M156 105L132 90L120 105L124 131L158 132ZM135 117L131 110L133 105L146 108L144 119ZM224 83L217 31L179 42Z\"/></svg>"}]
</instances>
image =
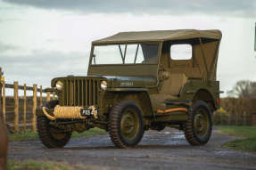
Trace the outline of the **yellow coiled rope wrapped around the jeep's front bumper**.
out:
<instances>
[{"instance_id":1,"label":"yellow coiled rope wrapped around the jeep's front bumper","mask_svg":"<svg viewBox=\"0 0 256 170\"><path fill-rule=\"evenodd\" d=\"M46 117L48 117L51 120L55 120L56 118L78 118L78 119L86 119L87 117L83 117L80 114L80 110L83 109L83 107L62 107L60 105L55 106L54 108L54 116L51 116L47 113L46 108L43 107L43 112ZM97 113L95 111L95 106L89 107L89 109L92 109L93 115L95 119L97 119Z\"/></svg>"}]
</instances>

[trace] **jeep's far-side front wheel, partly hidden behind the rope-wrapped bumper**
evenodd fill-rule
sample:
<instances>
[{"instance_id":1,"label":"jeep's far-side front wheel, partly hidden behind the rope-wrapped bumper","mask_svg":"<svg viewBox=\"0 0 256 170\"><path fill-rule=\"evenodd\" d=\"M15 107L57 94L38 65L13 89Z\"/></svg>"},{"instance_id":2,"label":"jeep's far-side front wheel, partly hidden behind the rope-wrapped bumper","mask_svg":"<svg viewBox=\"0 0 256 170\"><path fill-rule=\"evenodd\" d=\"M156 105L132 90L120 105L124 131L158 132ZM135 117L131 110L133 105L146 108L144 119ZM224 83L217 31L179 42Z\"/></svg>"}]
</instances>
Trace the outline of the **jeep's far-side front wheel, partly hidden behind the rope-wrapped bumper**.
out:
<instances>
[{"instance_id":1,"label":"jeep's far-side front wheel, partly hidden behind the rope-wrapped bumper","mask_svg":"<svg viewBox=\"0 0 256 170\"><path fill-rule=\"evenodd\" d=\"M44 104L48 109L54 109L58 101L49 101ZM45 116L37 117L37 132L41 142L47 148L62 148L69 141L71 132L62 132L60 129L50 125L50 119Z\"/></svg>"}]
</instances>

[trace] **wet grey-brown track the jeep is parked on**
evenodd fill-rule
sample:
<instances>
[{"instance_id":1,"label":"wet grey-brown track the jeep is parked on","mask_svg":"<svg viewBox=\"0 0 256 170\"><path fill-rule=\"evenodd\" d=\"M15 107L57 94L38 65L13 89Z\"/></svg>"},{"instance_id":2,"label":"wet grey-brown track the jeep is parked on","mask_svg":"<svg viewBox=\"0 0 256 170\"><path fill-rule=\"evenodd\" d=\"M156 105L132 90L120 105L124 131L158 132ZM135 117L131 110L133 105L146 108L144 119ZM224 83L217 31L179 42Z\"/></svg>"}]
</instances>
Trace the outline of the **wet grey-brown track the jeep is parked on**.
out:
<instances>
[{"instance_id":1,"label":"wet grey-brown track the jeep is parked on","mask_svg":"<svg viewBox=\"0 0 256 170\"><path fill-rule=\"evenodd\" d=\"M89 169L256 169L256 154L220 147L234 137L213 132L205 146L192 147L182 132L148 131L136 149L116 149L109 135L71 139L64 149L48 150L39 141L11 142L11 159L67 161ZM95 167L95 168L94 168Z\"/></svg>"}]
</instances>

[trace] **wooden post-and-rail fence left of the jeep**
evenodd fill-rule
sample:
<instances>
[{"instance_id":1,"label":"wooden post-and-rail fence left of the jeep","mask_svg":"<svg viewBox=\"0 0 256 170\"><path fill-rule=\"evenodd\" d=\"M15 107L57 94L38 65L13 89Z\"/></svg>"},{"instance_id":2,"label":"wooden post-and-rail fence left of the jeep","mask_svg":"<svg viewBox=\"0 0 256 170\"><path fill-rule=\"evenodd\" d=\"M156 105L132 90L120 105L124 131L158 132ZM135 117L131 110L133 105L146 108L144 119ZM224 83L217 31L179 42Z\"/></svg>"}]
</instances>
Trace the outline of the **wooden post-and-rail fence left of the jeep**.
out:
<instances>
[{"instance_id":1,"label":"wooden post-and-rail fence left of the jeep","mask_svg":"<svg viewBox=\"0 0 256 170\"><path fill-rule=\"evenodd\" d=\"M45 101L50 101L51 100L51 93L46 93L43 88L42 85L40 85L39 88L37 88L37 85L33 85L33 86L27 86L26 84L24 85L19 85L18 82L14 82L13 85L11 84L5 84L4 83L4 78L3 78L3 72L2 69L0 68L0 112L2 111L2 117L4 119L4 122L9 125L9 126L13 126L13 132L14 133L18 133L19 132L19 127L20 127L20 123L22 122L23 126L23 131L26 131L27 126L28 126L28 117L27 117L27 112L28 112L28 108L27 108L27 103L28 101L32 100L32 117L31 117L31 126L32 126L32 132L36 132L37 131L37 118L36 118L36 109L37 106L42 106L43 105L43 99L45 99ZM14 117L13 117L13 123L8 123L6 121L6 95L5 95L5 89L9 88L9 89L13 89L13 105L14 105ZM19 97L19 90L23 91L23 96ZM27 96L27 92L28 91L32 91L33 92L33 96L32 99L29 98L29 96ZM40 93L39 97L37 96L37 92ZM46 98L43 97L43 93L46 93ZM10 97L9 97L10 98ZM53 93L53 99L55 99L55 94ZM19 104L19 101L23 101L22 106L21 104ZM10 101L10 100L9 100ZM39 103L37 103L37 101L39 101ZM23 115L22 115L22 121L20 122L20 108L23 109ZM7 112L8 113L8 112Z\"/></svg>"}]
</instances>

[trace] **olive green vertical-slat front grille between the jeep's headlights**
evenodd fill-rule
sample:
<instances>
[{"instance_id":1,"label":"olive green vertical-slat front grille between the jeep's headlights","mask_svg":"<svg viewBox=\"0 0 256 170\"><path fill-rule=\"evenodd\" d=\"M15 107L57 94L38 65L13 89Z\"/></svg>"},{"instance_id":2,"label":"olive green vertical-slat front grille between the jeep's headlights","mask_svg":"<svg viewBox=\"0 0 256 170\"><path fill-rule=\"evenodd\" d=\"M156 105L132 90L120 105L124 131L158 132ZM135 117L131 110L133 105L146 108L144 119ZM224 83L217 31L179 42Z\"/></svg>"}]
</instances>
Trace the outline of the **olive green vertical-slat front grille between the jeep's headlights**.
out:
<instances>
[{"instance_id":1,"label":"olive green vertical-slat front grille between the jeep's headlights","mask_svg":"<svg viewBox=\"0 0 256 170\"><path fill-rule=\"evenodd\" d=\"M64 79L64 105L97 106L100 81L93 77Z\"/></svg>"}]
</instances>

